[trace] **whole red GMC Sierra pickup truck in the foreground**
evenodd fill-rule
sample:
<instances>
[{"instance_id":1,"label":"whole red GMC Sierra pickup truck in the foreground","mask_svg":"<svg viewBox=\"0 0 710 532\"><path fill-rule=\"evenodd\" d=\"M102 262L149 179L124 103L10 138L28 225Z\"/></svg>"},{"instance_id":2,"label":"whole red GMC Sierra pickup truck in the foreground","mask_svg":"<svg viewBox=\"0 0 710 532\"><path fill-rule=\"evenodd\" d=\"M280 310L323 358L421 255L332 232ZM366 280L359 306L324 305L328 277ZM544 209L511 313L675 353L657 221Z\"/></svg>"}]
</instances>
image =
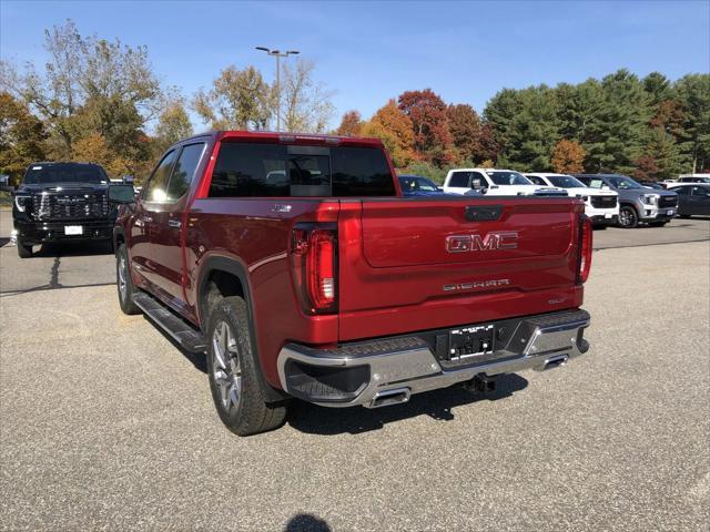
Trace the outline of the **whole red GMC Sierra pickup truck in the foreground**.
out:
<instances>
[{"instance_id":1,"label":"whole red GMC Sierra pickup truck in the foreground","mask_svg":"<svg viewBox=\"0 0 710 532\"><path fill-rule=\"evenodd\" d=\"M591 224L572 197L404 197L372 139L214 132L170 147L113 238L121 308L205 352L222 421L290 398L402 403L586 352Z\"/></svg>"}]
</instances>

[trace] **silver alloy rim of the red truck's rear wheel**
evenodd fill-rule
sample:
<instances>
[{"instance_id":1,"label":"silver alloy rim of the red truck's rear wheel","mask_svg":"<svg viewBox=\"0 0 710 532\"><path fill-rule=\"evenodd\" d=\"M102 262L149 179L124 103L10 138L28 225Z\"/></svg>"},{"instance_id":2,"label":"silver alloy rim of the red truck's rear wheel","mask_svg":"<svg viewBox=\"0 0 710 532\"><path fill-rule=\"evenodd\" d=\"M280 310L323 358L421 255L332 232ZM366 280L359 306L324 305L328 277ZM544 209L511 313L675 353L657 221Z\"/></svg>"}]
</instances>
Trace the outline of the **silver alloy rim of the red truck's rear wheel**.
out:
<instances>
[{"instance_id":1,"label":"silver alloy rim of the red truck's rear wheel","mask_svg":"<svg viewBox=\"0 0 710 532\"><path fill-rule=\"evenodd\" d=\"M226 321L219 321L212 332L212 377L225 411L239 407L242 396L242 367L236 338Z\"/></svg>"}]
</instances>

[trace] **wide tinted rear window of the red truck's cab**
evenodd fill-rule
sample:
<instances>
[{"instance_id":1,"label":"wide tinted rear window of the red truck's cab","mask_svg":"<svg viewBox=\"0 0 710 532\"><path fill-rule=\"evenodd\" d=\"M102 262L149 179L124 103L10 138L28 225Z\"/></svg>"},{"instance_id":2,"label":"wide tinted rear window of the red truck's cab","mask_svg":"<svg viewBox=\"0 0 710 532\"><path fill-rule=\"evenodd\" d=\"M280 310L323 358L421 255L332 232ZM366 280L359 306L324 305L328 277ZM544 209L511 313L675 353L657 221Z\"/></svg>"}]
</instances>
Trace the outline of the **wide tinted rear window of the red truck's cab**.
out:
<instances>
[{"instance_id":1,"label":"wide tinted rear window of the red truck's cab","mask_svg":"<svg viewBox=\"0 0 710 532\"><path fill-rule=\"evenodd\" d=\"M385 154L369 147L223 143L211 197L392 196Z\"/></svg>"}]
</instances>

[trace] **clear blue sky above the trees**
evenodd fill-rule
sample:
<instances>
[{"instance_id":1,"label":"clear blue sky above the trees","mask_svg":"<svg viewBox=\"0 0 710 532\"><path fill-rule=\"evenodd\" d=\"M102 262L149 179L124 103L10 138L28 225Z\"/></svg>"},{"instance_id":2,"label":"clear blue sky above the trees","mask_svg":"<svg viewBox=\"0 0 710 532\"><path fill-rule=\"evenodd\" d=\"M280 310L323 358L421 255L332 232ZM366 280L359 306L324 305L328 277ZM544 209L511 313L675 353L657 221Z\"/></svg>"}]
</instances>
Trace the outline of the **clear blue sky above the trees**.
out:
<instances>
[{"instance_id":1,"label":"clear blue sky above the trees","mask_svg":"<svg viewBox=\"0 0 710 532\"><path fill-rule=\"evenodd\" d=\"M43 30L145 44L185 95L220 70L254 64L256 45L300 50L336 91L337 115L369 116L405 90L432 88L481 111L503 88L579 82L619 68L671 79L710 71L710 1L0 2L0 55L44 60ZM200 127L201 124L195 124Z\"/></svg>"}]
</instances>

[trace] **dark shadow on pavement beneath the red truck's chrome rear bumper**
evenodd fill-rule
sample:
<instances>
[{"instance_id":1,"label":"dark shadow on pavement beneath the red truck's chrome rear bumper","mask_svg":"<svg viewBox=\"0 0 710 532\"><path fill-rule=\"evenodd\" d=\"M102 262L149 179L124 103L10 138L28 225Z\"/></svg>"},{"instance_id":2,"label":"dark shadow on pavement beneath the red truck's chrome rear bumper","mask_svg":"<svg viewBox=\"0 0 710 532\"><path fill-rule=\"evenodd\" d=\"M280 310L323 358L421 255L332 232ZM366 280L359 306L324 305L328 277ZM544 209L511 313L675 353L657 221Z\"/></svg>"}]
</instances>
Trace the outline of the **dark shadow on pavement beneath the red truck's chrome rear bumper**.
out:
<instances>
[{"instance_id":1,"label":"dark shadow on pavement beneath the red truck's chrome rear bumper","mask_svg":"<svg viewBox=\"0 0 710 532\"><path fill-rule=\"evenodd\" d=\"M382 429L385 424L417 416L429 416L442 421L455 418L455 407L480 400L497 401L524 390L528 380L516 374L498 378L496 391L474 393L462 386L412 396L409 402L374 410L367 408L325 408L294 400L291 403L287 423L294 429L312 434L357 434Z\"/></svg>"}]
</instances>

